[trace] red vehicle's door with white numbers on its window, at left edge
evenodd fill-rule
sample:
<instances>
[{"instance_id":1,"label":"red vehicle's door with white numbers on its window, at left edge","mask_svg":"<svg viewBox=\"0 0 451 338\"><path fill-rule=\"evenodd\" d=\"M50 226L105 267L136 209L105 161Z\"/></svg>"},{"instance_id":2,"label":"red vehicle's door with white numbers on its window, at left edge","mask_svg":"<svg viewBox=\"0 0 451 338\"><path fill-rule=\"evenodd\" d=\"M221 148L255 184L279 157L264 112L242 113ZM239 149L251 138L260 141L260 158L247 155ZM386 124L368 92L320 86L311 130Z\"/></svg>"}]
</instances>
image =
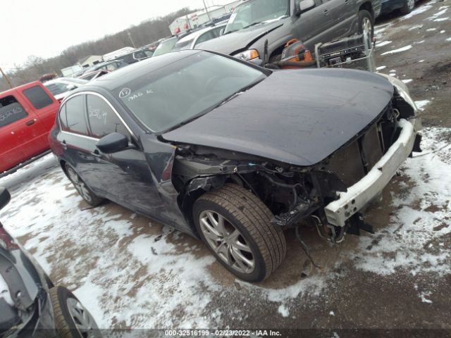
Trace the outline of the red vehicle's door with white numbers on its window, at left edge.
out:
<instances>
[{"instance_id":1,"label":"red vehicle's door with white numbers on its window, at left edge","mask_svg":"<svg viewBox=\"0 0 451 338\"><path fill-rule=\"evenodd\" d=\"M17 92L0 98L0 172L39 154L41 121Z\"/></svg>"}]
</instances>

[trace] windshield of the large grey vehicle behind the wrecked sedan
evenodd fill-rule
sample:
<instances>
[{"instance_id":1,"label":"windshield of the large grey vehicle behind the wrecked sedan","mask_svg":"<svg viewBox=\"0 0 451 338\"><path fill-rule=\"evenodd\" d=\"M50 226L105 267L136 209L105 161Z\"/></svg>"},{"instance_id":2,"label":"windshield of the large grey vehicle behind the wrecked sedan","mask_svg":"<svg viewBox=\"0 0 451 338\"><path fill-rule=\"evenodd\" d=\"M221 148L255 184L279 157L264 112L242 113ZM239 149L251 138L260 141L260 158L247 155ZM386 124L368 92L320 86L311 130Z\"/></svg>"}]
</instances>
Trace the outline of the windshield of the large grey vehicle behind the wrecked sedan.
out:
<instances>
[{"instance_id":1,"label":"windshield of the large grey vehicle behind the wrecked sedan","mask_svg":"<svg viewBox=\"0 0 451 338\"><path fill-rule=\"evenodd\" d=\"M250 0L237 6L230 16L224 34L266 23L290 14L290 0Z\"/></svg>"}]
</instances>

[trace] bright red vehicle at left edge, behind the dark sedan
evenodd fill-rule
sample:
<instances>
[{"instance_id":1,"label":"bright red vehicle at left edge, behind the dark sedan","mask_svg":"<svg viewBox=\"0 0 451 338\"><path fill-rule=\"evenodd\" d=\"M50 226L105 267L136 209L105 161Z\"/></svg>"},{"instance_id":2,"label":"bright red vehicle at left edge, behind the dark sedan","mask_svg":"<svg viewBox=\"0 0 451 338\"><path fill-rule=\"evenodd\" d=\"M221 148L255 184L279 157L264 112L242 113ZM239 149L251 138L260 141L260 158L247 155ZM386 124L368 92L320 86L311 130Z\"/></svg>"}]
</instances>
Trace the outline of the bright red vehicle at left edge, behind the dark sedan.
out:
<instances>
[{"instance_id":1,"label":"bright red vehicle at left edge, behind the dark sedan","mask_svg":"<svg viewBox=\"0 0 451 338\"><path fill-rule=\"evenodd\" d=\"M58 108L39 81L0 93L0 173L49 149Z\"/></svg>"}]
</instances>

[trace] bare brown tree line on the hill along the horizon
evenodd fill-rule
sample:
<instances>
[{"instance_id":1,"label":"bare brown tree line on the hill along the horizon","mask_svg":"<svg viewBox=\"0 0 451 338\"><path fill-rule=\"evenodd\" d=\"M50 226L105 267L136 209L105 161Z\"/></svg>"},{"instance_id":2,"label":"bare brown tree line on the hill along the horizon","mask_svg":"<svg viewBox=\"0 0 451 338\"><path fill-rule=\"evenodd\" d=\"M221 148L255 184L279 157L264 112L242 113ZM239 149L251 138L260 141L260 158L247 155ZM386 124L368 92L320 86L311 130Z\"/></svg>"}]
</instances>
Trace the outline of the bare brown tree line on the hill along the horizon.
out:
<instances>
[{"instance_id":1,"label":"bare brown tree line on the hill along the horizon","mask_svg":"<svg viewBox=\"0 0 451 338\"><path fill-rule=\"evenodd\" d=\"M61 75L61 69L78 63L81 58L90 55L104 55L125 46L132 46L128 36L129 32L137 47L167 37L171 35L171 30L169 30L168 26L173 20L190 12L188 8L182 8L163 17L143 21L139 25L133 25L116 34L105 35L97 40L70 46L59 56L52 58L44 59L39 56L28 56L27 61L23 65L20 65L20 67L16 66L16 69L9 71L6 75L14 87L39 80L39 77L47 73L58 73L58 75ZM9 89L8 84L3 77L0 77L0 92L6 89Z\"/></svg>"}]
</instances>

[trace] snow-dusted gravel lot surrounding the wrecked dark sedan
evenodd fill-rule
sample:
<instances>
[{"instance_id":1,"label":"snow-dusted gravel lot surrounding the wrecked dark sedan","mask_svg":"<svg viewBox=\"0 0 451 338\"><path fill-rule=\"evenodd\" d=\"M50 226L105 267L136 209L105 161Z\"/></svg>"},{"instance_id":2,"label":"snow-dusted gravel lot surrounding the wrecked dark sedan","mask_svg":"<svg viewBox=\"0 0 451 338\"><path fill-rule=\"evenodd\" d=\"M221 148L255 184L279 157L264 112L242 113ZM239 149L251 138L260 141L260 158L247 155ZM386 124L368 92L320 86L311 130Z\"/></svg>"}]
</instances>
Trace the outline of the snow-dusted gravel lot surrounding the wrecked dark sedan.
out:
<instances>
[{"instance_id":1,"label":"snow-dusted gravel lot surrounding the wrecked dark sedan","mask_svg":"<svg viewBox=\"0 0 451 338\"><path fill-rule=\"evenodd\" d=\"M376 234L333 246L302 232L321 269L303 268L288 232L276 273L236 280L196 239L113 203L88 208L50 168L53 156L0 179L13 194L0 219L100 327L451 330L450 4L420 1L378 20L379 71L404 80L421 106L424 151L366 212Z\"/></svg>"}]
</instances>

